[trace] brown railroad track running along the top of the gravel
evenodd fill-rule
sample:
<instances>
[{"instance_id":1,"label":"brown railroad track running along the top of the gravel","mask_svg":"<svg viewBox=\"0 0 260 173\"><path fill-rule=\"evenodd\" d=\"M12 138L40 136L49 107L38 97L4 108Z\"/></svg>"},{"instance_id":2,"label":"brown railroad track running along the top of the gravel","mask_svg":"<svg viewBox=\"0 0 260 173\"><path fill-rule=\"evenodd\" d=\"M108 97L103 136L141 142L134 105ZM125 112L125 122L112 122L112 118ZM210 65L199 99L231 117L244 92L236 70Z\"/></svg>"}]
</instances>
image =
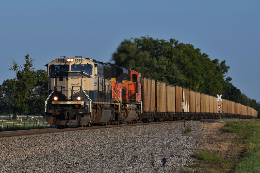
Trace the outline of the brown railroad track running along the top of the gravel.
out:
<instances>
[{"instance_id":1,"label":"brown railroad track running along the top of the gravel","mask_svg":"<svg viewBox=\"0 0 260 173\"><path fill-rule=\"evenodd\" d=\"M185 120L185 121L189 121L189 120ZM204 119L198 121L208 121L210 123L218 122L217 119L207 119L207 120ZM163 124L163 123L174 123L174 122L183 122L183 120L151 122L151 123L119 124L119 125L108 125L108 126L73 127L73 128L62 128L62 129L48 128L48 129L17 130L17 131L0 132L0 140L16 139L16 138L23 138L29 136L39 136L39 135L46 135L51 133L117 128L117 127L127 127L127 126L144 126L144 125L151 125L151 124Z\"/></svg>"}]
</instances>

